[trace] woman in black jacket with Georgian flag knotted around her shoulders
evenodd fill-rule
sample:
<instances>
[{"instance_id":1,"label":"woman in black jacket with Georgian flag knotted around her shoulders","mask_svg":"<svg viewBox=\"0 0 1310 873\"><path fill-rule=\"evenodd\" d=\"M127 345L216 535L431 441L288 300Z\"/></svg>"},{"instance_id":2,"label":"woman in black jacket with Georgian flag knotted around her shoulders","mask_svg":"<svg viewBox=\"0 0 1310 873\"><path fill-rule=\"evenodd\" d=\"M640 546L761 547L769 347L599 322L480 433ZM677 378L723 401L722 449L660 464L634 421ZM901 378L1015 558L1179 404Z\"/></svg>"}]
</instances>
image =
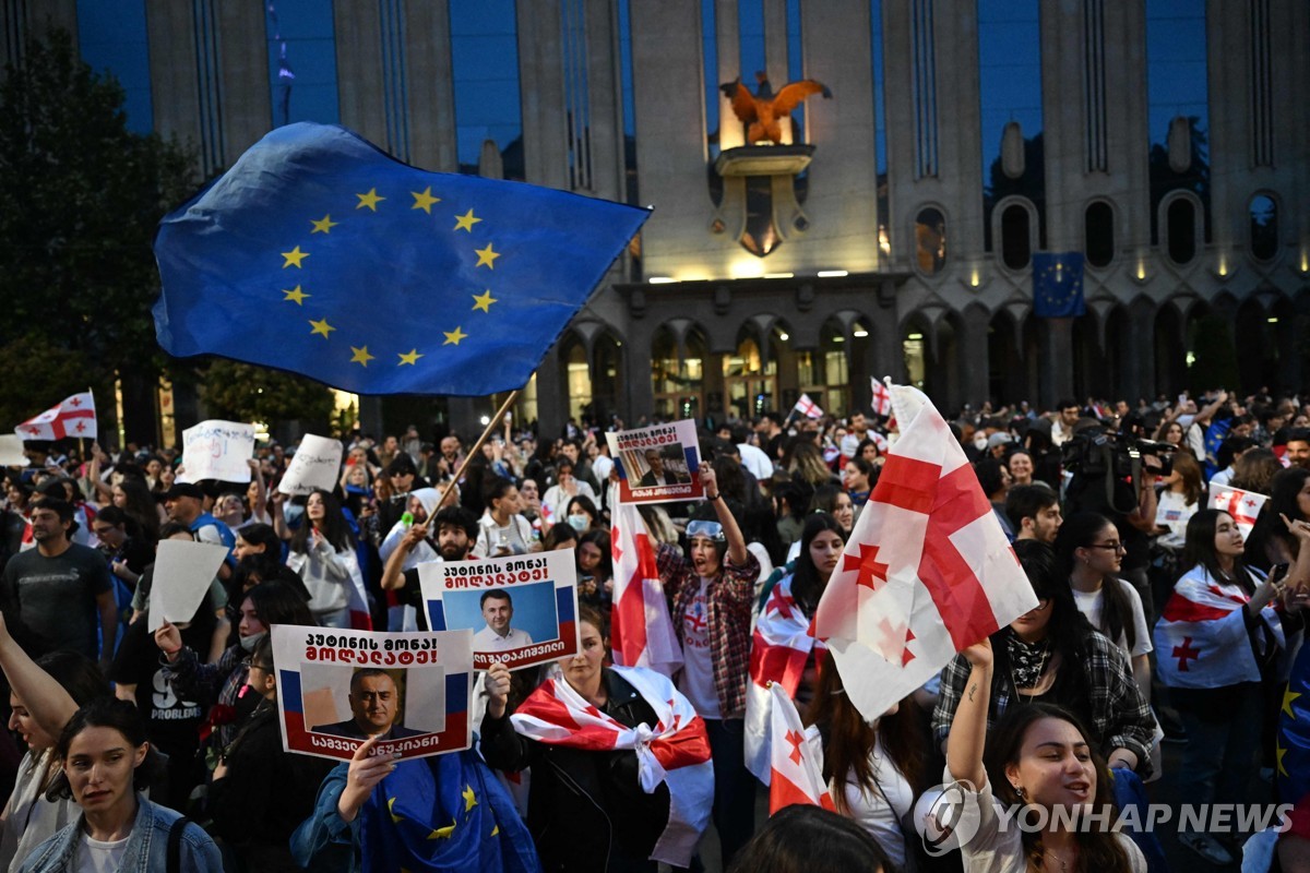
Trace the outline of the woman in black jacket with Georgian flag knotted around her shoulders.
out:
<instances>
[{"instance_id":1,"label":"woman in black jacket with Georgian flag knotted around her shoulders","mask_svg":"<svg viewBox=\"0 0 1310 873\"><path fill-rule=\"evenodd\" d=\"M481 750L507 772L532 767L528 828L546 870L686 866L714 797L705 724L667 677L605 668L600 614L579 609L582 648L508 713L510 670L487 670Z\"/></svg>"}]
</instances>

